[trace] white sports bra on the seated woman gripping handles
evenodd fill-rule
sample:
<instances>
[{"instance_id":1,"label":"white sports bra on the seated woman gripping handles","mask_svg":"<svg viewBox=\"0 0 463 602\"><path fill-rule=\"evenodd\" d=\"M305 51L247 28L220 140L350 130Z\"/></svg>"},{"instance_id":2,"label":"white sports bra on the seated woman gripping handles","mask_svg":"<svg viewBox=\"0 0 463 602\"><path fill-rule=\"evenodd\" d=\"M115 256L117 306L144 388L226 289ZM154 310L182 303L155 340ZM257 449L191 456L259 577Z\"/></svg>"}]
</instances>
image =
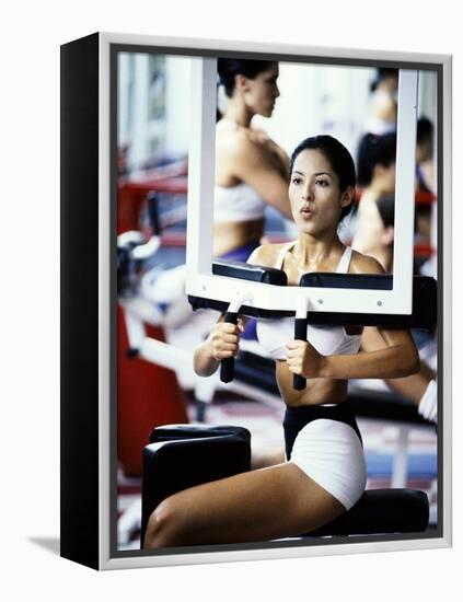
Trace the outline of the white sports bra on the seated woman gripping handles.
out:
<instances>
[{"instance_id":1,"label":"white sports bra on the seated woman gripping handles","mask_svg":"<svg viewBox=\"0 0 463 602\"><path fill-rule=\"evenodd\" d=\"M278 256L278 269L281 269L285 254L294 246L296 241L281 247ZM339 261L336 274L347 274L352 250L346 250ZM289 340L294 338L294 319L258 320L257 338L264 349L277 360L286 360ZM306 339L322 356L354 355L360 348L361 335L348 335L344 326L319 326L308 324Z\"/></svg>"}]
</instances>

